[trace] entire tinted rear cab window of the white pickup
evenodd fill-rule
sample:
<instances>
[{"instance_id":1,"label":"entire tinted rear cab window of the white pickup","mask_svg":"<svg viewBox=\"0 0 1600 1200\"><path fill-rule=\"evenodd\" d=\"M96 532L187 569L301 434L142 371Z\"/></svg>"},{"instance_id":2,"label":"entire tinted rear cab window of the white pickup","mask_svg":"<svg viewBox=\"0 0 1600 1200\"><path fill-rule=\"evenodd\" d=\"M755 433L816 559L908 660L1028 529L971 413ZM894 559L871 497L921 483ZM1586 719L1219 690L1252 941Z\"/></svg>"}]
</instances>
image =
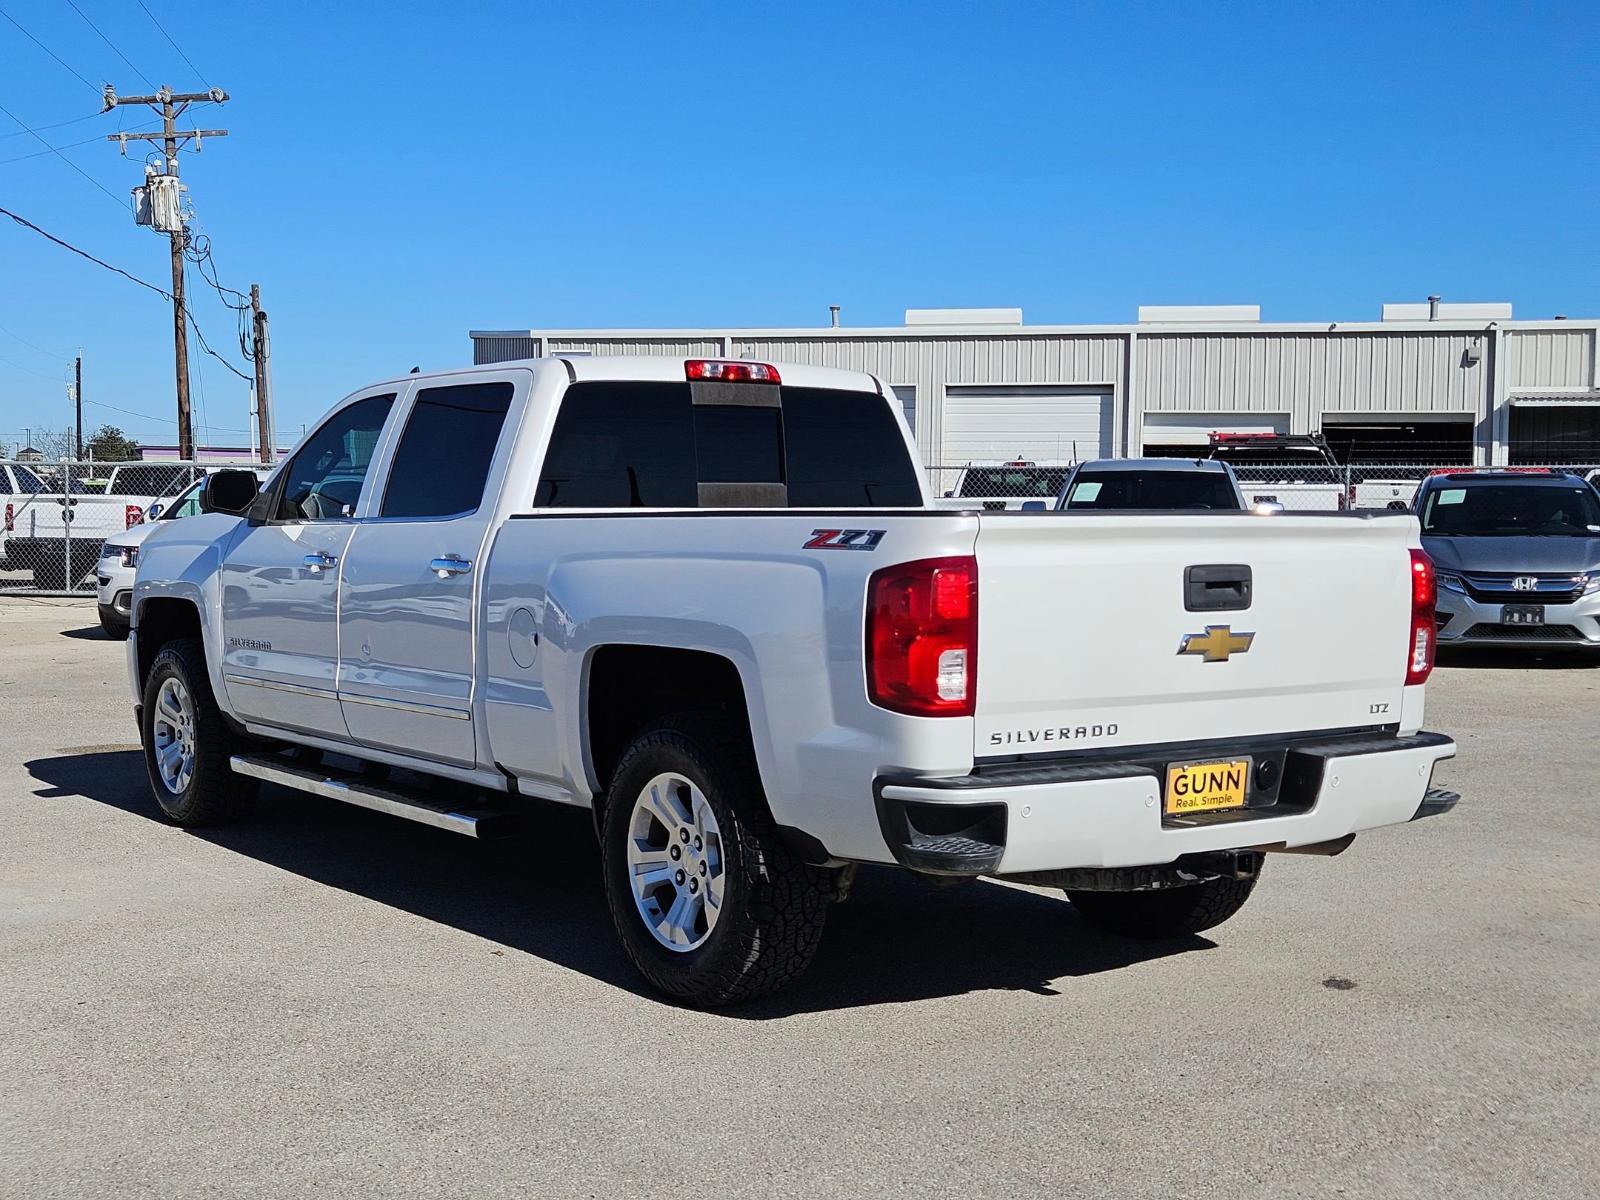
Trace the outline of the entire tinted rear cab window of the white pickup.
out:
<instances>
[{"instance_id":1,"label":"entire tinted rear cab window of the white pickup","mask_svg":"<svg viewBox=\"0 0 1600 1200\"><path fill-rule=\"evenodd\" d=\"M536 507L922 507L904 435L875 392L789 384L571 384Z\"/></svg>"}]
</instances>

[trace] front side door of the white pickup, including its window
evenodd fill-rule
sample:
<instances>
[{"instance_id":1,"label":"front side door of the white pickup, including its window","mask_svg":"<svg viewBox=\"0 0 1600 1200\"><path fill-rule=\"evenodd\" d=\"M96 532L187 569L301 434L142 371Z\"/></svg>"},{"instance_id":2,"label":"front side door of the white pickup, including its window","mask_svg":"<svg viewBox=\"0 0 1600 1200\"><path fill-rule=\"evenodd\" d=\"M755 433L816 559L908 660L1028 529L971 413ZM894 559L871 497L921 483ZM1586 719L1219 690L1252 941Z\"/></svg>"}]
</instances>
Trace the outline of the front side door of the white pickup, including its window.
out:
<instances>
[{"instance_id":1,"label":"front side door of the white pickup, including its window","mask_svg":"<svg viewBox=\"0 0 1600 1200\"><path fill-rule=\"evenodd\" d=\"M394 403L387 390L331 413L222 558L222 682L246 720L344 736L339 571Z\"/></svg>"}]
</instances>

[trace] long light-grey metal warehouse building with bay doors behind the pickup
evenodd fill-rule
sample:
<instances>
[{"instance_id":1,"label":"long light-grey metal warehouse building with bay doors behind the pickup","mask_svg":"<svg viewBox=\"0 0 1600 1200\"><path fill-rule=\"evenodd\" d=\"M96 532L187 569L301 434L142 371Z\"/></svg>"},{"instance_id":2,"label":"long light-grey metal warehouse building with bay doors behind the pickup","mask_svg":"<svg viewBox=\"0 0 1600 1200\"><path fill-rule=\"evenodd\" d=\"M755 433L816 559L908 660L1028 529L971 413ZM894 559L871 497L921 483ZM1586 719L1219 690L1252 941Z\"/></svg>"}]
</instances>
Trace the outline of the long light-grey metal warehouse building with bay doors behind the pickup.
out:
<instances>
[{"instance_id":1,"label":"long light-grey metal warehouse building with bay doors behind the pickup","mask_svg":"<svg viewBox=\"0 0 1600 1200\"><path fill-rule=\"evenodd\" d=\"M666 354L848 366L893 384L928 464L1181 453L1211 432L1322 432L1355 462L1600 461L1600 322L1509 304L1386 304L1363 323L1254 306L1134 325L909 309L898 328L474 331L475 363Z\"/></svg>"}]
</instances>

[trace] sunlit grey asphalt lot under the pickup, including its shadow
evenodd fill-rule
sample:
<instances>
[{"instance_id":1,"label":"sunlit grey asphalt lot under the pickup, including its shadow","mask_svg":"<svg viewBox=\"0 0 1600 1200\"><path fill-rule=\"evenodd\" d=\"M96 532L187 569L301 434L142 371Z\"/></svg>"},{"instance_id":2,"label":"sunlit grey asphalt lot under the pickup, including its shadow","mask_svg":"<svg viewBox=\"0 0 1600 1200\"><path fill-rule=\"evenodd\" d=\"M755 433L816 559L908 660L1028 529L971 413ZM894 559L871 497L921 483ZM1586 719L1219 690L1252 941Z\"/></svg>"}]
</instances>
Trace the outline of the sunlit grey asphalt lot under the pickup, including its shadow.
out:
<instances>
[{"instance_id":1,"label":"sunlit grey asphalt lot under the pickup, including its shadow","mask_svg":"<svg viewBox=\"0 0 1600 1200\"><path fill-rule=\"evenodd\" d=\"M162 824L93 603L0 600L0 1195L1600 1190L1600 662L1446 664L1450 816L1181 944L872 872L811 973L643 994L584 818Z\"/></svg>"}]
</instances>

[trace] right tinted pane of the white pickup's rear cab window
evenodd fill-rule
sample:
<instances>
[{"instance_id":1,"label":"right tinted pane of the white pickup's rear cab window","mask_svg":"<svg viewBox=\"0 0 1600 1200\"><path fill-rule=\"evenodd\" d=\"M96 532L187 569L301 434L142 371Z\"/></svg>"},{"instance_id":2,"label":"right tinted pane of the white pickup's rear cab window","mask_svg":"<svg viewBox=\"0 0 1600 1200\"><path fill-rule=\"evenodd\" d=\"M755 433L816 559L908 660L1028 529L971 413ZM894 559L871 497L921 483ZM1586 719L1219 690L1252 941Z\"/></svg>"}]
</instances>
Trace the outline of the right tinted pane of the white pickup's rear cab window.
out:
<instances>
[{"instance_id":1,"label":"right tinted pane of the white pickup's rear cab window","mask_svg":"<svg viewBox=\"0 0 1600 1200\"><path fill-rule=\"evenodd\" d=\"M782 398L790 507L922 504L917 469L880 397L784 384Z\"/></svg>"}]
</instances>

